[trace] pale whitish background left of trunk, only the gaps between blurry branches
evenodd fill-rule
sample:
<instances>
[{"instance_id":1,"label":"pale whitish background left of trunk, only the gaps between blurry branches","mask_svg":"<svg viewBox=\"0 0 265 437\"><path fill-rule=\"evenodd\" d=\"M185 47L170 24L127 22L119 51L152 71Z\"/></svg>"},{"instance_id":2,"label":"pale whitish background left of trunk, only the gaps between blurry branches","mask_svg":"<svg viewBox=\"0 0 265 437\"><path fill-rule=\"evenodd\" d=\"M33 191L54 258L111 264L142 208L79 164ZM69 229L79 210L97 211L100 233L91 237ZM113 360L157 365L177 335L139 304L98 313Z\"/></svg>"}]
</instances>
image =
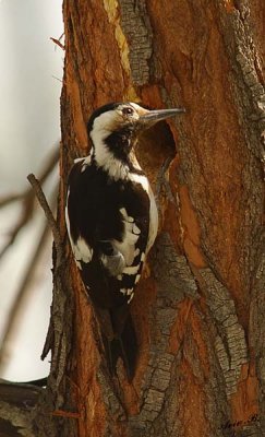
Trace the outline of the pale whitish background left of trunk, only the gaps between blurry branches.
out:
<instances>
[{"instance_id":1,"label":"pale whitish background left of trunk, only the gaps between blurry branches","mask_svg":"<svg viewBox=\"0 0 265 437\"><path fill-rule=\"evenodd\" d=\"M63 33L61 3L0 0L0 196L23 190L26 176L38 175L60 139L63 51L49 38L59 39ZM0 246L17 214L17 206L0 210ZM37 221L27 225L0 261L0 335L43 221L39 210ZM9 365L0 377L19 381L49 373L49 359L43 363L40 354L51 304L50 268L51 241L33 277L23 319L10 344Z\"/></svg>"}]
</instances>

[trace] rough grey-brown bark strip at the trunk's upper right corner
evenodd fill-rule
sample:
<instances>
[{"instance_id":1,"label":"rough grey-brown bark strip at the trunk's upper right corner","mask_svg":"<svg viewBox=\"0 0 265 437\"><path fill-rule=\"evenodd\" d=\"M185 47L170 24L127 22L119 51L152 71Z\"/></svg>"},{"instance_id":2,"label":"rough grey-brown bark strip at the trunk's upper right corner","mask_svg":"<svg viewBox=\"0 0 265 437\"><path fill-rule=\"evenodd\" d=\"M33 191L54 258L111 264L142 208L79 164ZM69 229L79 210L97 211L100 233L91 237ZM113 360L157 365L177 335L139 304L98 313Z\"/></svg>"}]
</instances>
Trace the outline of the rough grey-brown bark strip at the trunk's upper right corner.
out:
<instances>
[{"instance_id":1,"label":"rough grey-brown bark strip at the trunk's upper right corner","mask_svg":"<svg viewBox=\"0 0 265 437\"><path fill-rule=\"evenodd\" d=\"M262 133L265 129L265 90L261 59L251 32L251 5L241 1L227 13L217 2L226 49L233 67L232 83L246 144L261 158L265 156ZM262 55L262 54L261 54ZM234 62L236 60L236 62Z\"/></svg>"}]
</instances>

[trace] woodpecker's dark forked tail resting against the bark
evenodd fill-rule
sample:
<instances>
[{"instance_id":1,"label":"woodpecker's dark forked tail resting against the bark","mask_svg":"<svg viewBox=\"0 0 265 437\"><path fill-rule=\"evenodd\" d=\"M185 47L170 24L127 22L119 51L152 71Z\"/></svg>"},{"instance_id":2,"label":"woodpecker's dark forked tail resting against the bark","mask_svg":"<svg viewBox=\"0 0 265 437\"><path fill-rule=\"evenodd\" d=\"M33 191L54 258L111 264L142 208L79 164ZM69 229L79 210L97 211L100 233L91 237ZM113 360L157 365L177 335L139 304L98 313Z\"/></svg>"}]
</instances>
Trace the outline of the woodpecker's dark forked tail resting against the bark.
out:
<instances>
[{"instance_id":1,"label":"woodpecker's dark forked tail resting against the bark","mask_svg":"<svg viewBox=\"0 0 265 437\"><path fill-rule=\"evenodd\" d=\"M106 349L106 357L111 375L116 375L116 367L119 357L122 359L127 370L128 380L131 381L135 374L136 356L137 356L137 339L132 321L132 317L128 311L122 320L117 310L110 312L113 336L107 338L104 333L104 343Z\"/></svg>"}]
</instances>

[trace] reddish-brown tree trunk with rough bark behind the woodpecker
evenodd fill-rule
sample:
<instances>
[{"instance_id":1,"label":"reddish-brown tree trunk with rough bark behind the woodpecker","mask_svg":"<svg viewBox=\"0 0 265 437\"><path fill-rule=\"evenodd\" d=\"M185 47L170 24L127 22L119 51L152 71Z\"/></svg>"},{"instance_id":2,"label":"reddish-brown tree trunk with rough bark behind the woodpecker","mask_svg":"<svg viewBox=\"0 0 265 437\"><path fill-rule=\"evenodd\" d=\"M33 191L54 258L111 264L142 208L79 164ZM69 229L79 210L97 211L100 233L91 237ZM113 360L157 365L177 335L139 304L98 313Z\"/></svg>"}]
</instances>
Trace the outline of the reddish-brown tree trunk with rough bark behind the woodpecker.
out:
<instances>
[{"instance_id":1,"label":"reddish-brown tree trunk with rough bark behind the woodpecker","mask_svg":"<svg viewBox=\"0 0 265 437\"><path fill-rule=\"evenodd\" d=\"M65 255L58 265L55 253L51 374L33 435L265 435L264 12L246 0L64 0ZM106 373L63 213L86 121L115 101L188 110L137 150L160 228L132 303L131 385L121 365L118 378Z\"/></svg>"}]
</instances>

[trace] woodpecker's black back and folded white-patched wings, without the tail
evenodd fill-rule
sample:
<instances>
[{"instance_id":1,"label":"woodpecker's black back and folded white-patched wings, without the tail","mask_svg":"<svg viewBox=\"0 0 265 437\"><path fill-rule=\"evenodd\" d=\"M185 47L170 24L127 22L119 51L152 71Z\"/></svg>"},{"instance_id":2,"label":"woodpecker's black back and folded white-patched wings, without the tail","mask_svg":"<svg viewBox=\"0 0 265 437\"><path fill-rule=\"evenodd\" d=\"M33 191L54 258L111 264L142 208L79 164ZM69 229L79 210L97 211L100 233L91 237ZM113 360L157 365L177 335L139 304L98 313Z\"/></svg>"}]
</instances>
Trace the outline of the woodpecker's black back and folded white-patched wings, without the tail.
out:
<instances>
[{"instance_id":1,"label":"woodpecker's black back and folded white-patched wings, without the tail","mask_svg":"<svg viewBox=\"0 0 265 437\"><path fill-rule=\"evenodd\" d=\"M145 259L149 199L141 184L116 192L119 184L110 186L86 162L79 160L69 177L65 221L73 255L87 287L108 285L130 303Z\"/></svg>"}]
</instances>

